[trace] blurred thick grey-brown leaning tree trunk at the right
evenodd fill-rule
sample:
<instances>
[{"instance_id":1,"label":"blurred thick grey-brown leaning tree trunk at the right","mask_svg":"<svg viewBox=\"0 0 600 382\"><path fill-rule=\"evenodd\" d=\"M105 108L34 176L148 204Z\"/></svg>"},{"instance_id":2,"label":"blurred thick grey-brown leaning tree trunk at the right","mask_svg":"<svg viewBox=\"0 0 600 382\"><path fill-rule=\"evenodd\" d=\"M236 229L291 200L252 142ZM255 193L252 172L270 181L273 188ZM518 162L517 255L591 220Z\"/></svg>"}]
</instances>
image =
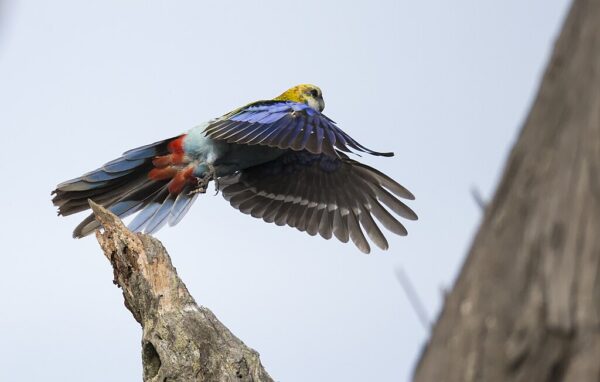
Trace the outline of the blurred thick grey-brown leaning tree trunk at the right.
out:
<instances>
[{"instance_id":1,"label":"blurred thick grey-brown leaning tree trunk at the right","mask_svg":"<svg viewBox=\"0 0 600 382\"><path fill-rule=\"evenodd\" d=\"M600 381L600 1L575 0L415 371Z\"/></svg>"}]
</instances>

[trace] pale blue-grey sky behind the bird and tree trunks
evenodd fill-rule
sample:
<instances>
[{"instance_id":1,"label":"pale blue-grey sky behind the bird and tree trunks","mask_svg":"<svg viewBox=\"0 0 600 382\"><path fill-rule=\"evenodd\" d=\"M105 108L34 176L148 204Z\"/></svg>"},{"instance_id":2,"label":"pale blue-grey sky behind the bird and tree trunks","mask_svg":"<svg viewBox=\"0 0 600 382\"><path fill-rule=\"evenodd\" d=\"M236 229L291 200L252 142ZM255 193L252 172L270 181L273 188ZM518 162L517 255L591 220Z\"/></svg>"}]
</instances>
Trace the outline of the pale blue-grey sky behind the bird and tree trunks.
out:
<instances>
[{"instance_id":1,"label":"pale blue-grey sky behind the bird and tree trunks","mask_svg":"<svg viewBox=\"0 0 600 382\"><path fill-rule=\"evenodd\" d=\"M416 195L370 255L208 192L156 236L277 381L408 381L569 2L0 1L0 380L141 380L141 329L56 184L297 83Z\"/></svg>"}]
</instances>

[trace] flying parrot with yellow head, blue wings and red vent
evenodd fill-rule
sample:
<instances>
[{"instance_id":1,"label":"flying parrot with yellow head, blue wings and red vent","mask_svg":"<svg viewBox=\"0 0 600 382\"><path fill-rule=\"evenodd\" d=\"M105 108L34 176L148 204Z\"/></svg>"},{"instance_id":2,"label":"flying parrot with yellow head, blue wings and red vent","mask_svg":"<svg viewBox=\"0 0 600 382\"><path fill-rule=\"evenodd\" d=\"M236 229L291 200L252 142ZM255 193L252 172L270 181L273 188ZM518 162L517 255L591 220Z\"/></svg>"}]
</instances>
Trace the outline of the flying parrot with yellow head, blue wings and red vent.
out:
<instances>
[{"instance_id":1,"label":"flying parrot with yellow head, blue wings and red vent","mask_svg":"<svg viewBox=\"0 0 600 382\"><path fill-rule=\"evenodd\" d=\"M396 216L417 220L401 200L415 197L388 175L352 159L350 154L394 154L363 146L323 114L324 108L319 87L294 86L187 133L126 151L58 184L52 202L58 215L68 216L87 210L90 199L120 218L136 214L129 229L152 234L179 223L212 181L244 214L311 236L352 240L364 253L371 251L370 242L387 250L379 224L407 235ZM98 228L89 215L73 237Z\"/></svg>"}]
</instances>

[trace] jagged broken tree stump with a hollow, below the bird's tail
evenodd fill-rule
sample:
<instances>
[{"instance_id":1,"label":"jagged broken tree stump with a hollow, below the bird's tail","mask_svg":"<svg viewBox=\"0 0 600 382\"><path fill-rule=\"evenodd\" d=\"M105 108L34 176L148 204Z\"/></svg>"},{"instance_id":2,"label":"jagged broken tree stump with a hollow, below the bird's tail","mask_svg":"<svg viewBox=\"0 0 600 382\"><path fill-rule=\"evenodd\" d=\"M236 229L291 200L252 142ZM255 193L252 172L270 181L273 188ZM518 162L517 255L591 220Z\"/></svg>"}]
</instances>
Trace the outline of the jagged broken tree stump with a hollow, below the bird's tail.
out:
<instances>
[{"instance_id":1,"label":"jagged broken tree stump with a hollow, below the bird's tail","mask_svg":"<svg viewBox=\"0 0 600 382\"><path fill-rule=\"evenodd\" d=\"M196 304L158 240L130 232L116 216L90 205L104 227L96 237L114 283L142 325L144 381L272 381L258 353Z\"/></svg>"}]
</instances>

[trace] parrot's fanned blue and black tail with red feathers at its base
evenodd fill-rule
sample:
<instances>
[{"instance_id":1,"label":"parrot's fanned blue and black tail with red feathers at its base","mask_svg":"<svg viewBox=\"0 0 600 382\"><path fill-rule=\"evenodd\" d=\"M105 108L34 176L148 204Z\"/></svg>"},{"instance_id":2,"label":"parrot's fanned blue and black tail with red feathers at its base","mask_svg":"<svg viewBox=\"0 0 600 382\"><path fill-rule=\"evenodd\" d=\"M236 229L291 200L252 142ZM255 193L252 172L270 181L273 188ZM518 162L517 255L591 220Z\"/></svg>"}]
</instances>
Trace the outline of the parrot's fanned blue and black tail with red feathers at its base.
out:
<instances>
[{"instance_id":1,"label":"parrot's fanned blue and black tail with red feathers at its base","mask_svg":"<svg viewBox=\"0 0 600 382\"><path fill-rule=\"evenodd\" d=\"M97 170L59 184L52 192L58 214L84 211L91 199L121 218L139 212L129 225L134 231L151 233L167 222L177 224L198 195L190 193L193 168L184 163L184 137L129 150ZM73 237L89 235L98 227L90 215Z\"/></svg>"}]
</instances>

